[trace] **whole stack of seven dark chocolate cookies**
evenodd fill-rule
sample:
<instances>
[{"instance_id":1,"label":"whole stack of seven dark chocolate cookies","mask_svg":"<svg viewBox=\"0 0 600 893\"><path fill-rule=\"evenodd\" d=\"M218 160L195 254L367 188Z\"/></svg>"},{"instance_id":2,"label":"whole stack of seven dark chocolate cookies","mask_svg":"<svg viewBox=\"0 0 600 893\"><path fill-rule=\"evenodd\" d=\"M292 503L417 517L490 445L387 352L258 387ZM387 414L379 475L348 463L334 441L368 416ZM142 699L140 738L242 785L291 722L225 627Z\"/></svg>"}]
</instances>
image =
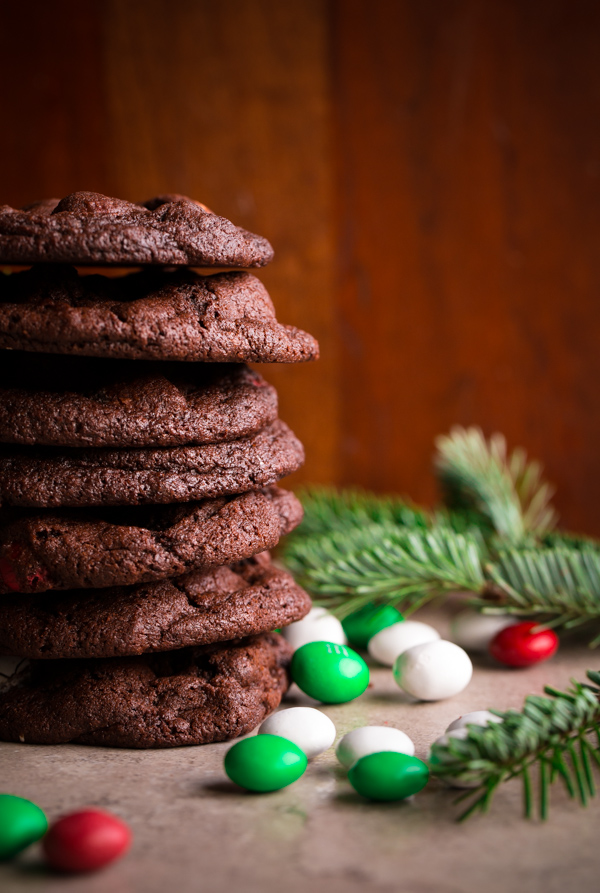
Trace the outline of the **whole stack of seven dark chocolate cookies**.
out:
<instances>
[{"instance_id":1,"label":"whole stack of seven dark chocolate cookies","mask_svg":"<svg viewBox=\"0 0 600 893\"><path fill-rule=\"evenodd\" d=\"M0 740L203 744L279 704L303 451L245 363L318 346L244 272L272 253L182 196L0 207Z\"/></svg>"}]
</instances>

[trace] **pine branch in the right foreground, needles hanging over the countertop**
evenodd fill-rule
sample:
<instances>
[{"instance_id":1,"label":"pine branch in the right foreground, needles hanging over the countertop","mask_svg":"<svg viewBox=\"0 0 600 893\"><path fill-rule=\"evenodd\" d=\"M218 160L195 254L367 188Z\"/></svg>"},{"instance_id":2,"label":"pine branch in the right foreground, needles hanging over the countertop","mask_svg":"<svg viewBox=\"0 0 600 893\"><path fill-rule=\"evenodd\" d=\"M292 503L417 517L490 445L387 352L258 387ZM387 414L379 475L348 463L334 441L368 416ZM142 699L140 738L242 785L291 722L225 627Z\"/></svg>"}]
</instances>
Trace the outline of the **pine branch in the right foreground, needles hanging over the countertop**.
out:
<instances>
[{"instance_id":1,"label":"pine branch in the right foreground, needles hanging over the countertop","mask_svg":"<svg viewBox=\"0 0 600 893\"><path fill-rule=\"evenodd\" d=\"M513 778L523 783L524 814L532 817L531 773L536 768L542 819L548 815L550 787L558 779L583 806L595 796L592 766L600 766L600 673L588 671L587 676L593 685L573 682L566 692L546 687L547 697L530 695L521 712L493 711L502 722L470 725L466 738L448 738L447 744L432 746L432 773L470 788L459 798L471 800L461 820L487 811L498 786Z\"/></svg>"}]
</instances>

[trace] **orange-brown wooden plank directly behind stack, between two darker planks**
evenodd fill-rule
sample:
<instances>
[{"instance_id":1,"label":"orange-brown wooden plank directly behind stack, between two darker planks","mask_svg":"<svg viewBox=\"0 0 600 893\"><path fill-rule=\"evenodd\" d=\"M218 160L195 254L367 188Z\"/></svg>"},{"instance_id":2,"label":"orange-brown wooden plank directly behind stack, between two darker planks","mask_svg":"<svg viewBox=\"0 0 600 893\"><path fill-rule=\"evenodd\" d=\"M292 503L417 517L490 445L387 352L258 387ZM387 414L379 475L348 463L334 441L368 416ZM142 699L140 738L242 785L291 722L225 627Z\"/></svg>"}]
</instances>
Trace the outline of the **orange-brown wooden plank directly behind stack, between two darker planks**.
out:
<instances>
[{"instance_id":1,"label":"orange-brown wooden plank directly behind stack, between two darker planks","mask_svg":"<svg viewBox=\"0 0 600 893\"><path fill-rule=\"evenodd\" d=\"M279 317L312 332L318 364L269 367L306 447L292 479L335 475L336 330L327 19L322 0L107 6L111 183L127 198L200 198L266 235L260 272Z\"/></svg>"}]
</instances>

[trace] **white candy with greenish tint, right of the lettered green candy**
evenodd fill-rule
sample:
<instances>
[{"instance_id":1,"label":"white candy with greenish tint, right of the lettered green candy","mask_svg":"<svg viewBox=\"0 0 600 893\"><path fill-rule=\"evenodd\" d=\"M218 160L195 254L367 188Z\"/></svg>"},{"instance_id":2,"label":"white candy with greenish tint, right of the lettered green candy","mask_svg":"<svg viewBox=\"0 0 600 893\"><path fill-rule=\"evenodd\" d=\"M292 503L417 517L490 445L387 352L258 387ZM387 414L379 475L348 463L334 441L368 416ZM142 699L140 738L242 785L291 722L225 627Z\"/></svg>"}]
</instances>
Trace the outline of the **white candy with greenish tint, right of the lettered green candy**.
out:
<instances>
[{"instance_id":1,"label":"white candy with greenish tint, right of the lettered green candy","mask_svg":"<svg viewBox=\"0 0 600 893\"><path fill-rule=\"evenodd\" d=\"M438 640L404 651L394 664L394 679L420 701L441 701L467 687L473 664L454 642Z\"/></svg>"}]
</instances>

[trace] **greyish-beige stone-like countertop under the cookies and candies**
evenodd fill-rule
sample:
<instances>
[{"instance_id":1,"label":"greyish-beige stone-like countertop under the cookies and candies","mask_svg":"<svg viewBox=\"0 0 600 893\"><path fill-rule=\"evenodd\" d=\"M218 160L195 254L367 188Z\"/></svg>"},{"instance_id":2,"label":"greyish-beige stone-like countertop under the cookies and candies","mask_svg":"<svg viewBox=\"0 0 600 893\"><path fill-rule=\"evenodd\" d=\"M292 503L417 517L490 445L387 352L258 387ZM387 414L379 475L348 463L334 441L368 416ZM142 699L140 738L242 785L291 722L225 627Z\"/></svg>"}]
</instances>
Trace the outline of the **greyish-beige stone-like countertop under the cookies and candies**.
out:
<instances>
[{"instance_id":1,"label":"greyish-beige stone-like countertop under the cookies and candies","mask_svg":"<svg viewBox=\"0 0 600 893\"><path fill-rule=\"evenodd\" d=\"M426 619L445 627L441 615ZM600 652L569 644L549 663L528 670L503 670L482 659L461 695L433 704L409 703L391 671L377 668L363 697L322 709L338 736L359 725L388 723L406 731L424 757L460 714L519 708L525 695L541 693L545 684L562 688L598 667ZM285 705L309 703L293 688ZM291 787L246 794L223 773L228 747L124 751L0 744L2 790L34 800L50 818L89 804L106 807L130 823L135 837L121 862L72 878L47 873L32 847L0 867L3 893L578 893L600 886L600 798L582 809L556 785L548 822L527 822L520 786L510 783L489 815L459 825L456 792L438 782L403 803L363 800L333 748Z\"/></svg>"}]
</instances>

